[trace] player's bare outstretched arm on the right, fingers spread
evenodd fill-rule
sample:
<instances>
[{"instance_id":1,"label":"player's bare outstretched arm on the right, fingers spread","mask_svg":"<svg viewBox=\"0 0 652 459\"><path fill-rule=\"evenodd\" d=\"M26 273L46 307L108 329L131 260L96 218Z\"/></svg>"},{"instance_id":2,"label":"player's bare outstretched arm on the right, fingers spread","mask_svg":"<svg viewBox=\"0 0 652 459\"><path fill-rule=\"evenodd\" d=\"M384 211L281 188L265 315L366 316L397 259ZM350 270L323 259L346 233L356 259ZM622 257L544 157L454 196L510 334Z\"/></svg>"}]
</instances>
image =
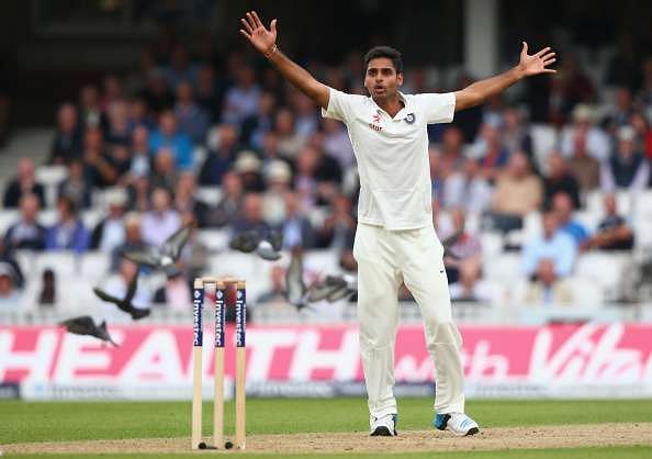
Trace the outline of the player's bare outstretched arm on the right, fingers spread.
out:
<instances>
[{"instance_id":1,"label":"player's bare outstretched arm on the right, fingers spread","mask_svg":"<svg viewBox=\"0 0 652 459\"><path fill-rule=\"evenodd\" d=\"M539 53L528 56L528 44L522 42L520 61L516 67L493 78L476 81L456 92L456 111L480 105L486 99L499 94L522 78L557 72L551 68L546 68L555 60L554 53L550 51L550 47L544 47Z\"/></svg>"}]
</instances>

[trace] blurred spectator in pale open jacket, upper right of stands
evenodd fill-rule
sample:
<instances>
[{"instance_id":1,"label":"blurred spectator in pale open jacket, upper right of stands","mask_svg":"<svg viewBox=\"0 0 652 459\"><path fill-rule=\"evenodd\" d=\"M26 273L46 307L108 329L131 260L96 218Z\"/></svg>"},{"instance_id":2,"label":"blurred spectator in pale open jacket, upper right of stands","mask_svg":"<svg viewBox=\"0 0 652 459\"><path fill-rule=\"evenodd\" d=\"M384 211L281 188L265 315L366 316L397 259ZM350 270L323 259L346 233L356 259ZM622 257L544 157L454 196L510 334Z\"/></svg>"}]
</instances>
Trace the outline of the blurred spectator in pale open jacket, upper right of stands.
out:
<instances>
[{"instance_id":1,"label":"blurred spectator in pale open jacket, upper right of stands","mask_svg":"<svg viewBox=\"0 0 652 459\"><path fill-rule=\"evenodd\" d=\"M598 161L609 156L609 137L593 125L594 111L589 105L580 104L573 110L573 124L563 130L561 153L570 158L577 144Z\"/></svg>"}]
</instances>

